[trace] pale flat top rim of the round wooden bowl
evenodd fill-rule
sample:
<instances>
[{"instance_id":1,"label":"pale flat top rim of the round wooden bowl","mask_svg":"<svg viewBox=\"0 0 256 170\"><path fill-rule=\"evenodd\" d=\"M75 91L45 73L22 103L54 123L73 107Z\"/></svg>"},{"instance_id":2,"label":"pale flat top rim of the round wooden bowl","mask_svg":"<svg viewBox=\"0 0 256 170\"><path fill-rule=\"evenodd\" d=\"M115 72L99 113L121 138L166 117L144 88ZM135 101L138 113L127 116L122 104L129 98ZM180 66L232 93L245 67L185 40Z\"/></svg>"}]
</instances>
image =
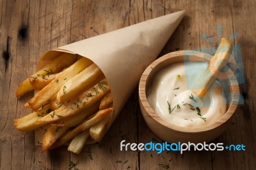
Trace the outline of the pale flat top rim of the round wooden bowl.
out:
<instances>
[{"instance_id":1,"label":"pale flat top rim of the round wooden bowl","mask_svg":"<svg viewBox=\"0 0 256 170\"><path fill-rule=\"evenodd\" d=\"M230 102L230 104L228 104L228 109L225 112L225 114L223 114L223 116L215 123L205 125L202 127L179 127L177 125L172 125L172 124L164 121L162 118L160 118L158 116L158 114L152 109L150 104L148 103L146 86L147 86L147 78L150 75L150 73L152 73L152 70L154 70L154 68L157 65L159 65L160 63L163 63L167 59L177 57L177 56L184 56L184 53L189 54L189 56L195 56L195 57L202 58L202 59L205 59L202 56L206 56L207 58L212 57L210 54L206 54L204 52L199 52L199 51L194 51L194 50L179 50L179 51L175 51L175 52L170 52L170 53L165 54L164 56L161 56L160 58L156 59L153 63L151 63L145 69L145 71L141 75L140 84L139 84L140 104L143 106L143 108L145 109L147 114L150 116L150 118L157 121L157 123L160 123L164 127L171 128L172 130L176 130L179 132L196 133L196 132L205 132L205 131L209 131L214 128L220 127L221 125L226 123L228 120L230 120L230 118L232 118L232 116L234 115L234 112L236 111L237 104L239 102L239 86L238 86L236 76L234 76L234 74L231 77L228 77L228 81L230 81L229 87L232 88L232 91L230 91L230 93L232 94L231 102ZM183 54L183 55L180 55L180 54ZM206 59L206 61L207 60L208 59ZM181 63L181 62L179 62L179 63ZM161 69L163 69L163 68L161 68ZM238 95L238 98L236 95ZM144 115L143 115L143 118L145 119Z\"/></svg>"}]
</instances>

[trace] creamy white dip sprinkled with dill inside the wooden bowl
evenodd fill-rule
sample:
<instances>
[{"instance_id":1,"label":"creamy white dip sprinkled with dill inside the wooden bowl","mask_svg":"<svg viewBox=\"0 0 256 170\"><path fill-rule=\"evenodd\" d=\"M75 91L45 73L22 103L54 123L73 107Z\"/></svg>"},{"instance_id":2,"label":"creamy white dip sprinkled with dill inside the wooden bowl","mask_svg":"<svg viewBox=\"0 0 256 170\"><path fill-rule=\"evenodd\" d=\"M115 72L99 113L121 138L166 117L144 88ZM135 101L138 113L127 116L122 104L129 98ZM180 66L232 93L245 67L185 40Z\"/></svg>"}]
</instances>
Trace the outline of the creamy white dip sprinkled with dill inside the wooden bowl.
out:
<instances>
[{"instance_id":1,"label":"creamy white dip sprinkled with dill inside the wooden bowl","mask_svg":"<svg viewBox=\"0 0 256 170\"><path fill-rule=\"evenodd\" d=\"M160 118L179 127L202 127L218 121L225 114L227 105L220 83L215 81L203 98L196 97L187 85L196 81L207 65L202 62L177 63L156 74L147 98Z\"/></svg>"}]
</instances>

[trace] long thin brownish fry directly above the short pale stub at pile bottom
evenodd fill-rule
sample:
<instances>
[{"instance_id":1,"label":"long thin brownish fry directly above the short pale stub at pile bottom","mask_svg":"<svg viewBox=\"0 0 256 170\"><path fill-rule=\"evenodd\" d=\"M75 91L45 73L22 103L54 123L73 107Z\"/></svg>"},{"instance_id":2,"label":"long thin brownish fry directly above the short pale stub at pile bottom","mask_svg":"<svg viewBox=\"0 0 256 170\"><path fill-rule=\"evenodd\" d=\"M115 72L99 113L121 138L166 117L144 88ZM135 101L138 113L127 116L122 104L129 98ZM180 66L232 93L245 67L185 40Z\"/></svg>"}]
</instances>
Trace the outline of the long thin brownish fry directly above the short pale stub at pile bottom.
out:
<instances>
[{"instance_id":1,"label":"long thin brownish fry directly above the short pale stub at pile bottom","mask_svg":"<svg viewBox=\"0 0 256 170\"><path fill-rule=\"evenodd\" d=\"M94 125L95 123L99 122L100 120L106 118L111 112L113 111L113 108L104 109L101 111L98 111L93 118L90 120L84 121L81 125L74 128L73 130L68 131L63 136L61 136L60 140L53 144L53 148L58 148L61 145L67 143L70 139L73 139L76 135L81 134L84 130L89 129Z\"/></svg>"}]
</instances>

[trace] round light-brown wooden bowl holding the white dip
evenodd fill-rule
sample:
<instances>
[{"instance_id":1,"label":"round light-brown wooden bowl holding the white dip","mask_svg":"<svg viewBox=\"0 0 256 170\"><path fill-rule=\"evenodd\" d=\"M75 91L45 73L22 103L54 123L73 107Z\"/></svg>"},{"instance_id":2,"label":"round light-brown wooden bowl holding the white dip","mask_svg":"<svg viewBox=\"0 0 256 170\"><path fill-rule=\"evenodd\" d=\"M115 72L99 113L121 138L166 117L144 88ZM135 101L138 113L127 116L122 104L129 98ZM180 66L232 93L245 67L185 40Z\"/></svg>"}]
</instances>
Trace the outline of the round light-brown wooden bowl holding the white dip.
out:
<instances>
[{"instance_id":1,"label":"round light-brown wooden bowl holding the white dip","mask_svg":"<svg viewBox=\"0 0 256 170\"><path fill-rule=\"evenodd\" d=\"M236 76L229 75L228 79L222 81L225 87L228 88L228 94L226 94L228 109L227 112L211 125L204 127L178 127L162 120L158 114L150 107L147 100L147 91L152 84L154 75L157 72L170 66L174 63L180 63L184 61L207 61L212 56L203 52L184 50L171 52L162 56L154 61L147 67L140 79L139 95L140 95L140 108L148 127L161 139L169 143L204 143L209 142L221 135L230 124L230 120L236 111L237 104L239 102L239 86L237 84Z\"/></svg>"}]
</instances>

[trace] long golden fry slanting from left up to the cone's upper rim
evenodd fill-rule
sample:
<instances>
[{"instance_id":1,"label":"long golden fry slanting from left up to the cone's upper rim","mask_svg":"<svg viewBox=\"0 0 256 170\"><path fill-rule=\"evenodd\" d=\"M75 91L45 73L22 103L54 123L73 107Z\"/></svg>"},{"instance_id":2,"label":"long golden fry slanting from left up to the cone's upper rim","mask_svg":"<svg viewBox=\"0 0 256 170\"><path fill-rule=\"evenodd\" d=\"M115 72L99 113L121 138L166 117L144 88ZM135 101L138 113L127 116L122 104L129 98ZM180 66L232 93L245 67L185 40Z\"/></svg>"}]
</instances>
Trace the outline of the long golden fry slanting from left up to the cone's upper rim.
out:
<instances>
[{"instance_id":1,"label":"long golden fry slanting from left up to the cone's upper rim","mask_svg":"<svg viewBox=\"0 0 256 170\"><path fill-rule=\"evenodd\" d=\"M90 59L81 58L66 70L63 70L63 72L58 73L54 81L51 81L47 86L45 86L45 88L36 93L35 97L29 100L28 104L31 109L33 109L33 111L37 111L47 100L58 93L65 82L91 64L92 61ZM65 91L65 89L63 89L63 91Z\"/></svg>"}]
</instances>

